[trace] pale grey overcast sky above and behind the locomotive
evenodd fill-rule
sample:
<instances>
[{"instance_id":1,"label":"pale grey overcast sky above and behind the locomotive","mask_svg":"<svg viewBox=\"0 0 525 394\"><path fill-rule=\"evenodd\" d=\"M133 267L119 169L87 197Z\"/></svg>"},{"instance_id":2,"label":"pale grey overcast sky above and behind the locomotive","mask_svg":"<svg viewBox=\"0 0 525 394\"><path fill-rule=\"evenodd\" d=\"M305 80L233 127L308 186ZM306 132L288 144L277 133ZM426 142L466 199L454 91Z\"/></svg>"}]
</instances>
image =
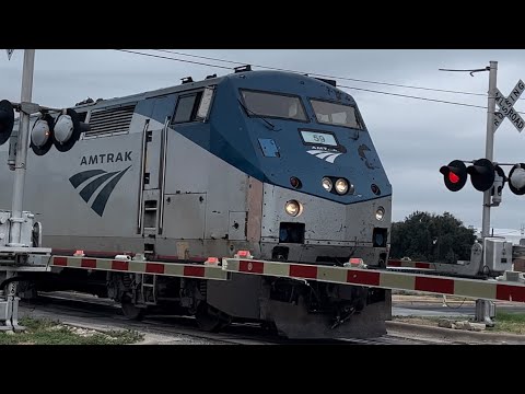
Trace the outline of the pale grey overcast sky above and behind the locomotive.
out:
<instances>
[{"instance_id":1,"label":"pale grey overcast sky above and behind the locomotive","mask_svg":"<svg viewBox=\"0 0 525 394\"><path fill-rule=\"evenodd\" d=\"M498 88L508 95L525 80L525 50L260 50L172 49L244 63L278 67L310 73L362 79L486 94L489 73L443 72L440 68L478 69L490 60L498 65ZM182 55L141 50L166 57L234 67ZM0 54L0 99L20 101L23 51L11 60ZM258 69L254 67L254 69ZM191 76L199 80L229 70L188 62L139 56L116 50L36 51L33 101L46 106L71 106L86 97L109 99L179 84ZM354 81L341 84L382 92L486 106L487 96L395 88ZM394 188L393 219L402 220L415 210L452 212L466 225L481 225L482 193L468 181L463 190L448 192L439 169L454 159L485 157L487 112L393 95L343 89L357 101ZM525 99L525 94L523 96ZM525 101L515 108L525 112ZM525 117L525 115L522 115ZM494 140L494 160L525 162L525 132L509 119ZM508 174L510 167L504 167ZM494 228L520 229L525 223L525 196L505 186L503 202L491 210Z\"/></svg>"}]
</instances>

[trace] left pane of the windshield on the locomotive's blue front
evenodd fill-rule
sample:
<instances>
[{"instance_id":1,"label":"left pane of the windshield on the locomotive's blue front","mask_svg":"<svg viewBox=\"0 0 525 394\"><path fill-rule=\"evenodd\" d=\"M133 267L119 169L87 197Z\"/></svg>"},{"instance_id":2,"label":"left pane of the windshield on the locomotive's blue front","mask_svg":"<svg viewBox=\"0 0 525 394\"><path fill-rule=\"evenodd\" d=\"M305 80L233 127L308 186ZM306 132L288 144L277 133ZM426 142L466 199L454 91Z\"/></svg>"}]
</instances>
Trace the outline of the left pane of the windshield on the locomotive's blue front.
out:
<instances>
[{"instance_id":1,"label":"left pane of the windshield on the locomotive's blue front","mask_svg":"<svg viewBox=\"0 0 525 394\"><path fill-rule=\"evenodd\" d=\"M307 120L298 96L255 91L241 91L241 94L250 116Z\"/></svg>"}]
</instances>

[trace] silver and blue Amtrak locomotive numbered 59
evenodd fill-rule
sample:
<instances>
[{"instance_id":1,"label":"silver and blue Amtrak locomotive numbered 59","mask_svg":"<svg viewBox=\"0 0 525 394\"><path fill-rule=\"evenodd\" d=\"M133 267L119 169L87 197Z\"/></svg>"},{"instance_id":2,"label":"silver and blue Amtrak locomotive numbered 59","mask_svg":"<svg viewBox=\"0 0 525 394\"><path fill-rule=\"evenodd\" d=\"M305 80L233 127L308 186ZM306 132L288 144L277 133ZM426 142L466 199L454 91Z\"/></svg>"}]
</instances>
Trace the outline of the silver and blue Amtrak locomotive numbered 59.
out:
<instances>
[{"instance_id":1,"label":"silver and blue Amtrak locomotive numbered 59","mask_svg":"<svg viewBox=\"0 0 525 394\"><path fill-rule=\"evenodd\" d=\"M54 253L198 265L249 251L386 266L392 186L354 100L332 81L244 67L72 109L89 127L70 146L51 147L31 124L24 209ZM5 167L1 182L12 182ZM10 206L9 189L0 201ZM162 308L205 329L260 322L294 338L381 335L390 306L388 290L242 274L63 268L39 286L110 297L130 317Z\"/></svg>"}]
</instances>

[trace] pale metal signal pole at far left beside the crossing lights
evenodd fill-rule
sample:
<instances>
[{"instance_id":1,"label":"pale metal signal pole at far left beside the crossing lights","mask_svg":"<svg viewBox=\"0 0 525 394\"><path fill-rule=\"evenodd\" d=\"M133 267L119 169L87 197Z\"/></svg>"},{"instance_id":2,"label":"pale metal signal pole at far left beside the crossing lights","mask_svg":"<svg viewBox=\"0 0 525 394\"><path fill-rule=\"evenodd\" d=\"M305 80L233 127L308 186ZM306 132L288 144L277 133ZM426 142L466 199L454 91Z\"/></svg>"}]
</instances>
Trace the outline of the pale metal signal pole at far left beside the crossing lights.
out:
<instances>
[{"instance_id":1,"label":"pale metal signal pole at far left beside the crossing lights","mask_svg":"<svg viewBox=\"0 0 525 394\"><path fill-rule=\"evenodd\" d=\"M8 246L30 246L21 243L22 202L24 199L25 171L27 166L27 144L30 138L30 115L35 105L31 103L33 94L33 70L35 49L24 49L24 68L22 71L22 94L20 111L20 127L16 142L16 164L14 170L13 204L11 208L11 234Z\"/></svg>"}]
</instances>

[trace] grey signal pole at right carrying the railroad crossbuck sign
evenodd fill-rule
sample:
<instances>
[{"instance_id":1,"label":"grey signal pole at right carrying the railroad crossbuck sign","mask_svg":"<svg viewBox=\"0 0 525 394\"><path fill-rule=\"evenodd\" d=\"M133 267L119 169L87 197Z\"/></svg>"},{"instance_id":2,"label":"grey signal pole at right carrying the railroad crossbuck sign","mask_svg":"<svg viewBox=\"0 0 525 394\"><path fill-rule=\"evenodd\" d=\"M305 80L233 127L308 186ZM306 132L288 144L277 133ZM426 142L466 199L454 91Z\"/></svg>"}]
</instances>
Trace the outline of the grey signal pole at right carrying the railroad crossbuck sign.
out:
<instances>
[{"instance_id":1,"label":"grey signal pole at right carrying the railroad crossbuck sign","mask_svg":"<svg viewBox=\"0 0 525 394\"><path fill-rule=\"evenodd\" d=\"M489 93L487 106L487 139L485 144L485 157L487 160L493 160L494 155L494 117L495 117L495 94L497 94L498 61L491 61L489 68ZM492 187L483 193L483 216L481 227L481 237L485 240L490 236L490 206ZM483 245L485 246L485 245ZM488 300L476 300L476 321L483 322L489 326L494 325L490 318L491 309L494 303Z\"/></svg>"}]
</instances>

